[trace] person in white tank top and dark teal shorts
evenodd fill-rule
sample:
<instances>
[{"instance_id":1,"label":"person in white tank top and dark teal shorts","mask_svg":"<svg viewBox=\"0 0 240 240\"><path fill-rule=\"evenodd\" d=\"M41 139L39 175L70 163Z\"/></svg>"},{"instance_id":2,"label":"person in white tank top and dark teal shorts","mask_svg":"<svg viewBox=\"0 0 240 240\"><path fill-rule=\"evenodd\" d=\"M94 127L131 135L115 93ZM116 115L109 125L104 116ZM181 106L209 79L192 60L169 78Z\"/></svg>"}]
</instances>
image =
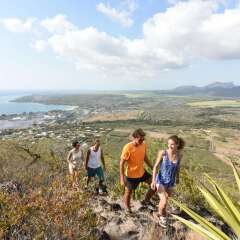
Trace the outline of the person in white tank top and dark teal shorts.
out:
<instances>
[{"instance_id":1,"label":"person in white tank top and dark teal shorts","mask_svg":"<svg viewBox=\"0 0 240 240\"><path fill-rule=\"evenodd\" d=\"M102 166L101 166L102 162ZM99 179L99 193L101 193L102 189L104 188L104 171L106 171L105 161L103 150L100 147L100 139L96 139L94 145L89 148L87 152L86 162L85 162L85 169L87 170L87 183L86 187L88 187L89 182L91 181L92 177L97 175Z\"/></svg>"}]
</instances>

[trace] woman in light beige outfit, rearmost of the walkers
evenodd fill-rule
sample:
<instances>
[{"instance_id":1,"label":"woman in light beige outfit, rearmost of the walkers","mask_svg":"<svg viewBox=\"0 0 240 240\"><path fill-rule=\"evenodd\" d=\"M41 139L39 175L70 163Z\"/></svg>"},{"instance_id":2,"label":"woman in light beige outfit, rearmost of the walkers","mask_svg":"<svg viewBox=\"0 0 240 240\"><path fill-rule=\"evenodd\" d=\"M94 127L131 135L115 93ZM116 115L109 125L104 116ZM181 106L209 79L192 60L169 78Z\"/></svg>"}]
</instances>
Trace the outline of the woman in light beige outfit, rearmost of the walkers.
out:
<instances>
[{"instance_id":1,"label":"woman in light beige outfit, rearmost of the walkers","mask_svg":"<svg viewBox=\"0 0 240 240\"><path fill-rule=\"evenodd\" d=\"M73 149L69 151L67 156L67 162L69 167L69 173L72 176L72 185L77 187L79 185L79 168L83 163L83 151L78 141L72 143Z\"/></svg>"}]
</instances>

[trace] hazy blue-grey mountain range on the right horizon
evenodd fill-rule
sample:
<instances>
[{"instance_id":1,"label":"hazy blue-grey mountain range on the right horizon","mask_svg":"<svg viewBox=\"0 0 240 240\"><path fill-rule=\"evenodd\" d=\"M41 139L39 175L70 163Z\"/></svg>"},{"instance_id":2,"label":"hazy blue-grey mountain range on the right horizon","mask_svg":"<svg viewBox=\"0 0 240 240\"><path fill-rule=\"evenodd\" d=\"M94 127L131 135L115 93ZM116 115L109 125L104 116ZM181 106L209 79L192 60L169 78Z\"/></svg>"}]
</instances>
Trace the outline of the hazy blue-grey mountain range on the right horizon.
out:
<instances>
[{"instance_id":1,"label":"hazy blue-grey mountain range on the right horizon","mask_svg":"<svg viewBox=\"0 0 240 240\"><path fill-rule=\"evenodd\" d=\"M172 90L160 91L162 94L179 96L213 96L240 98L240 86L233 82L214 82L204 87L180 86Z\"/></svg>"}]
</instances>

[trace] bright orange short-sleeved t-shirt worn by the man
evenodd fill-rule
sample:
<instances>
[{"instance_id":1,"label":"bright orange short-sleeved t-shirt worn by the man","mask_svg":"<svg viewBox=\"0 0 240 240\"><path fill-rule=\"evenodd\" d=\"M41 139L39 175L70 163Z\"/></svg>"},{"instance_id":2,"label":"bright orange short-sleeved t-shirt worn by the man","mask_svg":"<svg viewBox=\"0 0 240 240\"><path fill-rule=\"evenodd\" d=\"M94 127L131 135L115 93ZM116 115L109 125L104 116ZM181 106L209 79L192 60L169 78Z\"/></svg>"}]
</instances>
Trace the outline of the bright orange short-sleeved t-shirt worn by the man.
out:
<instances>
[{"instance_id":1,"label":"bright orange short-sleeved t-shirt worn by the man","mask_svg":"<svg viewBox=\"0 0 240 240\"><path fill-rule=\"evenodd\" d=\"M140 178L144 175L145 154L145 143L135 146L132 142L130 142L124 146L121 158L127 161L127 177Z\"/></svg>"}]
</instances>

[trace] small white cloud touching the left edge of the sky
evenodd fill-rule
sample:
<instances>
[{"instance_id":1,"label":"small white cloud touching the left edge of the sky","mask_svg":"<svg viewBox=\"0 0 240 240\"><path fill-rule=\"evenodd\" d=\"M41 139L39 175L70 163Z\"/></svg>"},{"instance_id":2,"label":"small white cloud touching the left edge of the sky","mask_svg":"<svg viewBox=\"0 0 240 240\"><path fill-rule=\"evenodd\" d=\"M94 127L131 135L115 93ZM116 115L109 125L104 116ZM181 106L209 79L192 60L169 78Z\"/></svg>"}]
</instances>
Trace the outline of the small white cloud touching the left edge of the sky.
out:
<instances>
[{"instance_id":1,"label":"small white cloud touching the left edge of the sky","mask_svg":"<svg viewBox=\"0 0 240 240\"><path fill-rule=\"evenodd\" d=\"M5 18L0 20L0 23L10 32L23 33L30 32L35 21L35 18L28 18L25 21L19 18Z\"/></svg>"}]
</instances>

